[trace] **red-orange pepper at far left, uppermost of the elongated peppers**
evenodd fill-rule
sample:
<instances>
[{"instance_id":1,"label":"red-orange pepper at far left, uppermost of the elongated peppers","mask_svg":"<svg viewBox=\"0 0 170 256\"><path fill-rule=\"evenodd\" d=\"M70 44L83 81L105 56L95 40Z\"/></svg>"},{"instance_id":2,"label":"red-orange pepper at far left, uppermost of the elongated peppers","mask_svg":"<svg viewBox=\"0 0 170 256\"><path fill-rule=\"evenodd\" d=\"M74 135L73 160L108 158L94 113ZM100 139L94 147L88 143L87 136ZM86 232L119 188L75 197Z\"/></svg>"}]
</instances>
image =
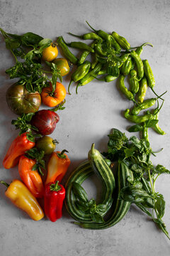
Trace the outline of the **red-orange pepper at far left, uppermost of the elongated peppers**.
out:
<instances>
[{"instance_id":1,"label":"red-orange pepper at far left, uppermost of the elongated peppers","mask_svg":"<svg viewBox=\"0 0 170 256\"><path fill-rule=\"evenodd\" d=\"M11 146L8 148L6 156L3 160L5 169L10 169L18 164L19 158L25 153L25 151L32 149L35 146L35 142L30 142L27 139L27 133L24 132L20 136L13 140Z\"/></svg>"}]
</instances>

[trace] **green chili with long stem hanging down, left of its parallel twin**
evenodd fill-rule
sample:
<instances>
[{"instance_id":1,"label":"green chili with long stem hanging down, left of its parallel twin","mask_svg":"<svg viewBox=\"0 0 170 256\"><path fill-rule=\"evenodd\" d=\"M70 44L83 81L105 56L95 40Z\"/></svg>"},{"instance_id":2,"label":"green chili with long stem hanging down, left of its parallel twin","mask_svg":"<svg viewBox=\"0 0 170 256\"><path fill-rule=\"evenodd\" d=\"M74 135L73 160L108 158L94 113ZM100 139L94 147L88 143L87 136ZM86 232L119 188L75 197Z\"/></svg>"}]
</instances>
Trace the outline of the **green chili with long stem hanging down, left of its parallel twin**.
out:
<instances>
[{"instance_id":1,"label":"green chili with long stem hanging down, left of its parallel twin","mask_svg":"<svg viewBox=\"0 0 170 256\"><path fill-rule=\"evenodd\" d=\"M78 82L79 80L81 80L81 78L84 78L84 76L89 72L90 68L91 68L91 63L88 60L86 60L83 64L79 65L77 70L75 70L74 73L72 73L72 78L69 82L69 87L73 81ZM68 87L68 92L69 92L69 87Z\"/></svg>"}]
</instances>

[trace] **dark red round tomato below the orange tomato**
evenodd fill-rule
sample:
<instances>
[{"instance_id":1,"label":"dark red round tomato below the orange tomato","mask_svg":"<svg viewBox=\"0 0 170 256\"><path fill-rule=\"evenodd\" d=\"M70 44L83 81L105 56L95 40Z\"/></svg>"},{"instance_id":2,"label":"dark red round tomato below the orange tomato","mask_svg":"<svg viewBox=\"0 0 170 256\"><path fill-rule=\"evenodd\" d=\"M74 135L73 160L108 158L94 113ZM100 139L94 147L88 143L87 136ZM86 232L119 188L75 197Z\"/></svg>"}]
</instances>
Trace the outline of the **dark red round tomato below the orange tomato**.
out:
<instances>
[{"instance_id":1,"label":"dark red round tomato below the orange tomato","mask_svg":"<svg viewBox=\"0 0 170 256\"><path fill-rule=\"evenodd\" d=\"M42 135L49 135L54 131L59 119L59 115L54 111L39 110L33 115L30 122L33 126L38 128L38 133Z\"/></svg>"}]
</instances>

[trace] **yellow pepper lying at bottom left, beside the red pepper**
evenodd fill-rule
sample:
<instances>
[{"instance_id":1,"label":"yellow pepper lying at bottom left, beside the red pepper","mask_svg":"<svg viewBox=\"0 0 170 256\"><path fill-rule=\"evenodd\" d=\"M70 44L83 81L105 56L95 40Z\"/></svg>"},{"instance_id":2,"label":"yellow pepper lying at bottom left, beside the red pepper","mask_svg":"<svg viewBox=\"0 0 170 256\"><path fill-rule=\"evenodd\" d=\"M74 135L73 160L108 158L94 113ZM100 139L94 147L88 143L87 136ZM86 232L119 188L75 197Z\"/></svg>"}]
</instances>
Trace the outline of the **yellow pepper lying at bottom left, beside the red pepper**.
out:
<instances>
[{"instance_id":1,"label":"yellow pepper lying at bottom left, beside the red pepper","mask_svg":"<svg viewBox=\"0 0 170 256\"><path fill-rule=\"evenodd\" d=\"M0 181L0 183L3 183L7 187L5 192L6 197L9 198L15 206L28 213L30 218L33 220L41 220L44 217L43 210L38 201L23 182L15 179L10 184L4 181Z\"/></svg>"}]
</instances>

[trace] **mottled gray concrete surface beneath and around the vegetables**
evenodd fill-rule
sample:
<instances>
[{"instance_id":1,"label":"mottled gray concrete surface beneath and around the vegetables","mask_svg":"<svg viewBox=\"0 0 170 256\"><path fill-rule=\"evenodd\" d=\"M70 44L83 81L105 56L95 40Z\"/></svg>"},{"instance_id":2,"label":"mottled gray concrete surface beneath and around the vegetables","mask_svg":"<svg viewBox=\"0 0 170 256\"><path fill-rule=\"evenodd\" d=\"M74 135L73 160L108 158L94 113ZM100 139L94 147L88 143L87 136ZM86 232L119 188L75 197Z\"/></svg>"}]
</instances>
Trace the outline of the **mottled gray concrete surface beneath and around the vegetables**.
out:
<instances>
[{"instance_id":1,"label":"mottled gray concrete surface beneath and around the vegetables","mask_svg":"<svg viewBox=\"0 0 170 256\"><path fill-rule=\"evenodd\" d=\"M170 169L170 1L0 0L0 27L9 33L32 31L54 40L62 35L67 41L71 41L73 38L67 32L81 34L89 31L86 20L96 29L118 31L128 39L131 46L139 46L145 42L154 45L154 48L145 47L142 59L147 58L152 66L158 94L168 91L159 115L159 122L166 135L150 131L149 140L155 151L164 148L153 158L154 163L163 164ZM16 116L6 105L6 89L13 81L8 79L5 70L13 65L13 58L6 50L2 37L0 55L0 179L10 182L13 178L19 178L17 167L5 170L2 159L18 131L11 126L11 119ZM68 82L64 78L66 87ZM151 91L147 95L153 97ZM131 102L120 95L116 82L91 82L79 88L78 95L72 86L72 95L67 95L66 100L66 109L60 112L60 122L52 134L60 142L57 149L67 149L72 161L63 183L73 169L87 158L93 142L97 149L106 149L107 134L111 128L118 128L130 136L126 131L130 123L125 120L122 111L132 106ZM166 175L157 181L157 191L166 200L164 222L170 231L169 183L170 177ZM95 182L89 181L89 188L89 193L95 196L98 189ZM72 218L65 208L63 217L56 223L51 223L46 218L39 222L30 220L21 210L11 205L4 196L4 191L5 188L0 186L1 256L168 256L170 253L169 240L145 214L133 206L113 228L84 230L72 224Z\"/></svg>"}]
</instances>

